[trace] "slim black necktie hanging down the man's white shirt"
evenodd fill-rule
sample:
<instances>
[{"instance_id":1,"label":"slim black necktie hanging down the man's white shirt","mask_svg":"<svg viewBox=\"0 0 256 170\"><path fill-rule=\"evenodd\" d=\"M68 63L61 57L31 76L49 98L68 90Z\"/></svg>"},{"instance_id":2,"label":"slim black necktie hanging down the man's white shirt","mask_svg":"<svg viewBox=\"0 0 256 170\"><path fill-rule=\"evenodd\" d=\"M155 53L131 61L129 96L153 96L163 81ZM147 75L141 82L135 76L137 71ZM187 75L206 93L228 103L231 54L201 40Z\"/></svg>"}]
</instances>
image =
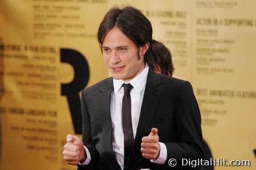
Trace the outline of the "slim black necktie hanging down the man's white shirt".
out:
<instances>
[{"instance_id":1,"label":"slim black necktie hanging down the man's white shirt","mask_svg":"<svg viewBox=\"0 0 256 170\"><path fill-rule=\"evenodd\" d=\"M132 114L131 114L131 84L123 84L124 96L122 104L122 123L124 132L124 165L127 163L133 145Z\"/></svg>"}]
</instances>

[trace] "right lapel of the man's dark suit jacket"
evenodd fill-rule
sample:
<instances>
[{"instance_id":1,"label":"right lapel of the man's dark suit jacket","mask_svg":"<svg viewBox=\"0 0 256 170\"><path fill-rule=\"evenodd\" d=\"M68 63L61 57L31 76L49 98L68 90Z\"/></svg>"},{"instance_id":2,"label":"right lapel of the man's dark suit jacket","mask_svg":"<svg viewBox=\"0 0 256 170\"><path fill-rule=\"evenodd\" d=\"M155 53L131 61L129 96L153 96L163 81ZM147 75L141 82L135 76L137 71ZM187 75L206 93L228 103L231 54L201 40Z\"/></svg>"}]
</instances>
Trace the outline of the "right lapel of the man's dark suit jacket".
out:
<instances>
[{"instance_id":1,"label":"right lapel of the man's dark suit jacket","mask_svg":"<svg viewBox=\"0 0 256 170\"><path fill-rule=\"evenodd\" d=\"M161 80L156 73L149 69L148 78L146 81L146 87L144 97L141 106L140 119L135 137L135 144L133 145L131 155L127 164L132 163L132 160L136 158L135 155L140 153L140 145L142 137L150 133L150 124L154 113L157 108L158 100L160 99L161 91L158 89L161 84Z\"/></svg>"}]
</instances>

